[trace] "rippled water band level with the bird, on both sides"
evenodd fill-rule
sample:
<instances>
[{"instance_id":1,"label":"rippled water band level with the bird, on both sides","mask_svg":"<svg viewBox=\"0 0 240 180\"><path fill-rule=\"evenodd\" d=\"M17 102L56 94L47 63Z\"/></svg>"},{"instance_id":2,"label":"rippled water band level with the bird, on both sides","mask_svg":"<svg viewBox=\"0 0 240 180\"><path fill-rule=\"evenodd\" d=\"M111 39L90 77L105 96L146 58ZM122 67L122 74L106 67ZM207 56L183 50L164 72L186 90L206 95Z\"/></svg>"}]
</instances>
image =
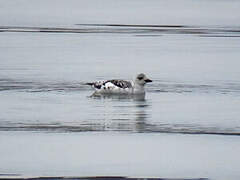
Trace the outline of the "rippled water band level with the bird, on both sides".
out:
<instances>
[{"instance_id":1,"label":"rippled water band level with the bird, on both sides","mask_svg":"<svg viewBox=\"0 0 240 180\"><path fill-rule=\"evenodd\" d=\"M85 82L33 82L18 81L14 79L0 79L0 91L25 91L25 92L48 92L48 91L90 91L91 87ZM152 93L221 93L240 94L239 83L218 84L189 84L184 82L163 82L155 80L146 87Z\"/></svg>"}]
</instances>

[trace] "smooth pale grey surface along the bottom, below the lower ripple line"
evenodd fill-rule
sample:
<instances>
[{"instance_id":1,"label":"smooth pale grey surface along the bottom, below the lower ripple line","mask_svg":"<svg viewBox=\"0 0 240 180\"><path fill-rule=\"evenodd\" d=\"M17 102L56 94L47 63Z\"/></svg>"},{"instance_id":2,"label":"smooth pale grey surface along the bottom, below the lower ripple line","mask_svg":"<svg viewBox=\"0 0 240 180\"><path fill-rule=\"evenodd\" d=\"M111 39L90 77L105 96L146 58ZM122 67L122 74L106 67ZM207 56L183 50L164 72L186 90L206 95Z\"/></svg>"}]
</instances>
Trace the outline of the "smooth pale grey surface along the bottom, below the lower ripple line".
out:
<instances>
[{"instance_id":1,"label":"smooth pale grey surface along the bottom, below the lower ripple line","mask_svg":"<svg viewBox=\"0 0 240 180\"><path fill-rule=\"evenodd\" d=\"M1 173L240 178L236 136L0 132L0 138Z\"/></svg>"}]
</instances>

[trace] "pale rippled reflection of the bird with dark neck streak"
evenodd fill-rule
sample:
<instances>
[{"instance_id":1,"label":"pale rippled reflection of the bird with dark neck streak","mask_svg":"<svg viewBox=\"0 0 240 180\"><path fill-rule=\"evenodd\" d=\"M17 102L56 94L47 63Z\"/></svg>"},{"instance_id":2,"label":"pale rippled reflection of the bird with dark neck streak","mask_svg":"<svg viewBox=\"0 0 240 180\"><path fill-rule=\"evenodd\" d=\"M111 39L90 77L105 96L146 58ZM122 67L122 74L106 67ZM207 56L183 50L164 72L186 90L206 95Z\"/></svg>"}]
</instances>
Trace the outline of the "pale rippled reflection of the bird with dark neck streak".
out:
<instances>
[{"instance_id":1,"label":"pale rippled reflection of the bird with dark neck streak","mask_svg":"<svg viewBox=\"0 0 240 180\"><path fill-rule=\"evenodd\" d=\"M150 105L144 94L94 94L91 98L105 101L102 111L104 131L146 132L150 130L151 125L147 123Z\"/></svg>"}]
</instances>

